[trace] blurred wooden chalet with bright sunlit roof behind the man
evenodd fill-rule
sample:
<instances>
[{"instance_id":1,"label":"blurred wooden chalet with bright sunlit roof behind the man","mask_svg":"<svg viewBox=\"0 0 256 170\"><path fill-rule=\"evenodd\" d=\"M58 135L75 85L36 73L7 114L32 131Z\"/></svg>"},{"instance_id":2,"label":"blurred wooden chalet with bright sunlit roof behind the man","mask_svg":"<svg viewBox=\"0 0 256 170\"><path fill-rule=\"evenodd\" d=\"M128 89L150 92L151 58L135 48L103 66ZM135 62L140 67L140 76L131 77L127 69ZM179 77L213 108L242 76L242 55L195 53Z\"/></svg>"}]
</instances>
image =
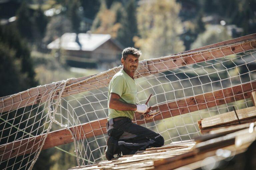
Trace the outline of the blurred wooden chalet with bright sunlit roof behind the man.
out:
<instances>
[{"instance_id":1,"label":"blurred wooden chalet with bright sunlit roof behind the man","mask_svg":"<svg viewBox=\"0 0 256 170\"><path fill-rule=\"evenodd\" d=\"M80 68L112 68L120 63L123 49L109 34L90 33L65 33L47 48L57 49L68 65Z\"/></svg>"}]
</instances>

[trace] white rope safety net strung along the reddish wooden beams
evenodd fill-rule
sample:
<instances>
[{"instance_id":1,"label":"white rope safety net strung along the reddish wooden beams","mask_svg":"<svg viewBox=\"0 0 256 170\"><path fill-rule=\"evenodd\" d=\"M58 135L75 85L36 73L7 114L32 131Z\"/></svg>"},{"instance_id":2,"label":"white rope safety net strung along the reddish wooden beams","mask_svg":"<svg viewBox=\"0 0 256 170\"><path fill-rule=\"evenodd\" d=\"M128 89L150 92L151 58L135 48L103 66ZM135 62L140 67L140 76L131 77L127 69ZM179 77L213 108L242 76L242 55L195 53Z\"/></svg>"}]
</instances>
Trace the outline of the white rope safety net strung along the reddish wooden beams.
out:
<instances>
[{"instance_id":1,"label":"white rope safety net strung along the reddish wooden beams","mask_svg":"<svg viewBox=\"0 0 256 170\"><path fill-rule=\"evenodd\" d=\"M79 166L105 160L108 83L120 68L1 98L1 169L32 169L42 149L66 143ZM255 70L255 40L144 60L137 102L152 94L148 105L160 113L151 122L135 114L135 121L160 133L165 144L191 140L200 134L198 120L252 106Z\"/></svg>"}]
</instances>

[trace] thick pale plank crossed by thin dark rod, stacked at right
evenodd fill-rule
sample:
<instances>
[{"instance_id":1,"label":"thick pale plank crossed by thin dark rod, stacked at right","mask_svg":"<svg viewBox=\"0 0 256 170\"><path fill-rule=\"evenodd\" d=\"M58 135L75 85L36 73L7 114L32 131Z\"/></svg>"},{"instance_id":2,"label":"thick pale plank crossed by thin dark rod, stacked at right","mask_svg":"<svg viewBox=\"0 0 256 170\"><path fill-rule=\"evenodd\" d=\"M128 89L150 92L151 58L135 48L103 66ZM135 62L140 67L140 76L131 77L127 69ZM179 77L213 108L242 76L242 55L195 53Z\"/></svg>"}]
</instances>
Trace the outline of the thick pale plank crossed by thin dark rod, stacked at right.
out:
<instances>
[{"instance_id":1,"label":"thick pale plank crossed by thin dark rod, stacked at right","mask_svg":"<svg viewBox=\"0 0 256 170\"><path fill-rule=\"evenodd\" d=\"M254 106L236 110L239 120L245 120L256 117L256 109ZM201 120L202 128L219 126L227 123L238 122L234 111L223 113L220 115L204 118Z\"/></svg>"}]
</instances>

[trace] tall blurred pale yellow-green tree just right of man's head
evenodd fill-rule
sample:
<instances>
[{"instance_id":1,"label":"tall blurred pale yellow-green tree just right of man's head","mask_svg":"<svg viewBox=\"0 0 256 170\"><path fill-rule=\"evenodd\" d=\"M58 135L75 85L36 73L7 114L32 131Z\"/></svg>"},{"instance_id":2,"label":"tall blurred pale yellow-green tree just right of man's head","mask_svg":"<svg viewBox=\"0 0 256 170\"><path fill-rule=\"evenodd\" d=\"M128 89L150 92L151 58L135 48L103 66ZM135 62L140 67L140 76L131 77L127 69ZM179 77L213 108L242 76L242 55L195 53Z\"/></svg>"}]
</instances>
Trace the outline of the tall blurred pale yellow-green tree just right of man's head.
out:
<instances>
[{"instance_id":1,"label":"tall blurred pale yellow-green tree just right of man's head","mask_svg":"<svg viewBox=\"0 0 256 170\"><path fill-rule=\"evenodd\" d=\"M138 7L138 31L135 46L143 58L181 52L185 49L179 38L183 28L179 19L180 5L175 0L156 0Z\"/></svg>"}]
</instances>

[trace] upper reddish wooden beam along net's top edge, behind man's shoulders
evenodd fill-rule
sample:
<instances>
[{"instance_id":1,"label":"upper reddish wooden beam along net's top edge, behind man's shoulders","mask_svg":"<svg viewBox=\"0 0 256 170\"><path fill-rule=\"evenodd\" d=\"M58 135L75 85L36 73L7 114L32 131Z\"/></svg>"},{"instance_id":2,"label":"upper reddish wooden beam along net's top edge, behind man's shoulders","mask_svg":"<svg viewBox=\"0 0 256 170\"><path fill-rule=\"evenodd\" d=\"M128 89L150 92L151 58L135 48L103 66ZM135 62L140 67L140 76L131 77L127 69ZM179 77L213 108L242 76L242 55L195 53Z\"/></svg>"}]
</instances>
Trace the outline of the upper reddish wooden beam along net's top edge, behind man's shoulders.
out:
<instances>
[{"instance_id":1,"label":"upper reddish wooden beam along net's top edge, behind man's shoulders","mask_svg":"<svg viewBox=\"0 0 256 170\"><path fill-rule=\"evenodd\" d=\"M212 51L206 50L208 49L206 48L206 46L202 48L202 50L205 51L198 51L198 49L200 48L197 48L188 51L189 53L178 53L175 55L170 55L167 58L156 58L141 61L136 71L135 78L139 78L141 76L148 76L150 74L155 74L166 70L179 68L185 65L212 60L230 54L236 54L239 52L251 50L253 48L256 48L255 37L256 34L252 34L249 36L244 36L240 39L233 39L213 44L212 47L217 47L223 44L232 44L241 41L240 44L233 44L229 47L217 48ZM68 96L70 94L92 90L95 88L105 87L109 84L114 74L118 72L120 69L121 67L119 66L104 73L100 73L97 76L92 75L71 80L67 84L67 87L65 88L62 97ZM47 101L47 99L49 98L50 92L55 91L58 87L61 87L63 84L63 82L59 82L57 84L53 83L45 86L32 88L12 96L2 97L0 101L0 112L8 112L25 106L43 103ZM57 96L58 92L56 92L55 98Z\"/></svg>"}]
</instances>

